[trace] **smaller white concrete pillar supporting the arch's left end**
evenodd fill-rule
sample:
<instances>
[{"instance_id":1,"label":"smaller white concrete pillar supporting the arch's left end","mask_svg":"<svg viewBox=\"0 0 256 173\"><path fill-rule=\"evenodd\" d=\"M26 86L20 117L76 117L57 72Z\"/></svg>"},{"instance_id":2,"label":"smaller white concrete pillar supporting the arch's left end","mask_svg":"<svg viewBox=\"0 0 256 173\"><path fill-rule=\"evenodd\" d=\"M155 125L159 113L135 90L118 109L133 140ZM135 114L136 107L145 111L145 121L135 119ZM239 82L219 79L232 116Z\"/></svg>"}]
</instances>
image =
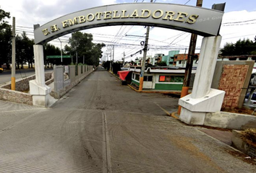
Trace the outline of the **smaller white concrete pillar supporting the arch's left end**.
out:
<instances>
[{"instance_id":1,"label":"smaller white concrete pillar supporting the arch's left end","mask_svg":"<svg viewBox=\"0 0 256 173\"><path fill-rule=\"evenodd\" d=\"M33 105L47 107L51 88L46 86L44 63L43 63L43 45L34 45L35 58L35 80L30 81L30 94L33 97Z\"/></svg>"}]
</instances>

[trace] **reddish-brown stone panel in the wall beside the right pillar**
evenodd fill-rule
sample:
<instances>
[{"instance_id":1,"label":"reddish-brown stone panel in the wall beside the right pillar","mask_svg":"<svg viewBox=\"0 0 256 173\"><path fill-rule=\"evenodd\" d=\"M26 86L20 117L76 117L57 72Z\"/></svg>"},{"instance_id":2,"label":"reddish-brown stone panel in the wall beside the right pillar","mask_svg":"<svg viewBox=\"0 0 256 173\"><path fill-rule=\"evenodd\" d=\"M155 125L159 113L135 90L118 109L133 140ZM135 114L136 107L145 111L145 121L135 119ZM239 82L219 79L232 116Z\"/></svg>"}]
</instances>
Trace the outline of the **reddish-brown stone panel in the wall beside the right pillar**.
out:
<instances>
[{"instance_id":1,"label":"reddish-brown stone panel in the wall beside the right pillar","mask_svg":"<svg viewBox=\"0 0 256 173\"><path fill-rule=\"evenodd\" d=\"M249 65L223 65L223 71L218 85L218 89L226 92L222 108L239 106L239 97L242 93L248 68Z\"/></svg>"}]
</instances>

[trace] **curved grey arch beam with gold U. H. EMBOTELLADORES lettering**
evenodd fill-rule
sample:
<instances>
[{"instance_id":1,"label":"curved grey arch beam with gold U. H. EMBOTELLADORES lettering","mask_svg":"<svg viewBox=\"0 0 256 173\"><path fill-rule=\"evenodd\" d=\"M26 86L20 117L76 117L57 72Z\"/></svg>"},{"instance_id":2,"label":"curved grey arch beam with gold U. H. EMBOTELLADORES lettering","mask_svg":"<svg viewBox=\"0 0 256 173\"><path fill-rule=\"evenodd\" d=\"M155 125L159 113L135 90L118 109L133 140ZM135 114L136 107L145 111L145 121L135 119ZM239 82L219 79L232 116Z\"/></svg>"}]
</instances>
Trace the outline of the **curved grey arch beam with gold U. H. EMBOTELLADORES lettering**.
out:
<instances>
[{"instance_id":1,"label":"curved grey arch beam with gold U. H. EMBOTELLADORES lettering","mask_svg":"<svg viewBox=\"0 0 256 173\"><path fill-rule=\"evenodd\" d=\"M99 6L67 14L34 30L35 44L46 43L61 35L108 25L150 25L195 33L218 35L223 12L162 3L132 3ZM50 35L51 33L51 35Z\"/></svg>"}]
</instances>

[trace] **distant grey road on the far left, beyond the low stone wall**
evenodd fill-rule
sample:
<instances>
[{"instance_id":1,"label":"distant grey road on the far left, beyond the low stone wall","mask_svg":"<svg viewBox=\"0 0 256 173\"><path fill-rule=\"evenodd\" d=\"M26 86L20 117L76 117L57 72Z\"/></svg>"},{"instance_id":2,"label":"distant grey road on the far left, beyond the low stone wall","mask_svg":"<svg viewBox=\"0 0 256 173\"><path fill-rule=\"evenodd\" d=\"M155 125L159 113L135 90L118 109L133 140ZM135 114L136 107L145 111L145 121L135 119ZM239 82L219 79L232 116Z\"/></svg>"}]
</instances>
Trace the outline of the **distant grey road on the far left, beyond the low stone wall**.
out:
<instances>
[{"instance_id":1,"label":"distant grey road on the far left, beyond the low stone wall","mask_svg":"<svg viewBox=\"0 0 256 173\"><path fill-rule=\"evenodd\" d=\"M46 72L53 71L52 68L46 69ZM26 70L16 70L15 72L15 79L26 78L28 76L32 76L35 74L35 69L26 69ZM0 84L5 84L11 81L12 72L11 71L4 71L0 73Z\"/></svg>"}]
</instances>

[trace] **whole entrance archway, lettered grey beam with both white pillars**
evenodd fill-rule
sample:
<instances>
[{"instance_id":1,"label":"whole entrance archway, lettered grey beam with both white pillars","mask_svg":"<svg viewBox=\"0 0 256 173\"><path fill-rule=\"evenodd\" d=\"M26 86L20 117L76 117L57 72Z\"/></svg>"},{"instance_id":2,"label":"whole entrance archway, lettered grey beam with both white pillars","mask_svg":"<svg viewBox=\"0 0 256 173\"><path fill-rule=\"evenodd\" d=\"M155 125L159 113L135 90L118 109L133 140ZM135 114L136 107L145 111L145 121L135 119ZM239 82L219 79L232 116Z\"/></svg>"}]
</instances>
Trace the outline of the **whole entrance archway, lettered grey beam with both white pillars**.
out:
<instances>
[{"instance_id":1,"label":"whole entrance archway, lettered grey beam with both white pillars","mask_svg":"<svg viewBox=\"0 0 256 173\"><path fill-rule=\"evenodd\" d=\"M165 27L204 37L192 94L179 99L179 105L182 105L181 120L185 123L200 124L204 119L203 112L220 110L223 100L224 92L210 89L221 43L218 32L222 17L221 11L196 6L132 3L98 6L64 15L42 26L34 25L35 81L30 81L33 103L47 106L50 92L44 81L41 44L71 32L93 27L113 25Z\"/></svg>"}]
</instances>

